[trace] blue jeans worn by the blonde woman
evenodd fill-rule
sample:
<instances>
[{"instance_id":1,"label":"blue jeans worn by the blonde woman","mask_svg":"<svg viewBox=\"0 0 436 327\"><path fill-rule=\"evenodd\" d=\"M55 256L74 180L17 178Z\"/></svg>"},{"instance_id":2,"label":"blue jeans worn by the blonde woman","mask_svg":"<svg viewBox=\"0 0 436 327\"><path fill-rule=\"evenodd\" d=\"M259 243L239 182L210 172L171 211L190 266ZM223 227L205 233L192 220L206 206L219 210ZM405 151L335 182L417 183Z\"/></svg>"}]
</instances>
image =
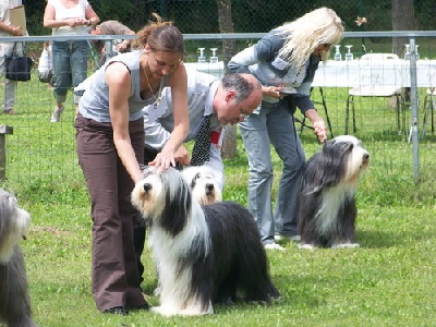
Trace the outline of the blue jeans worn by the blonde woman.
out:
<instances>
[{"instance_id":1,"label":"blue jeans worn by the blonde woman","mask_svg":"<svg viewBox=\"0 0 436 327\"><path fill-rule=\"evenodd\" d=\"M249 210L257 222L262 243L274 243L275 234L296 235L296 204L305 156L286 104L263 101L259 113L245 118L240 131L250 166ZM282 164L274 213L270 145Z\"/></svg>"}]
</instances>

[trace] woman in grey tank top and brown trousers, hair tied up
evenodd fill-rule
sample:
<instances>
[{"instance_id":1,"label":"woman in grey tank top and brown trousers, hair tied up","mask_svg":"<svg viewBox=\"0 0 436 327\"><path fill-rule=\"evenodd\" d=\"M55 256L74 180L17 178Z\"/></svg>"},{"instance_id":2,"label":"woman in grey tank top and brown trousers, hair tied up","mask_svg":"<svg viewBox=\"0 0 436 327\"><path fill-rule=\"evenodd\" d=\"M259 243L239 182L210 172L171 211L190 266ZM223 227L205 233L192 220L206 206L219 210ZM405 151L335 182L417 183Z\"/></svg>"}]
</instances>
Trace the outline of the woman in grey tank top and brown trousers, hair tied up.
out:
<instances>
[{"instance_id":1,"label":"woman in grey tank top and brown trousers, hair tied up","mask_svg":"<svg viewBox=\"0 0 436 327\"><path fill-rule=\"evenodd\" d=\"M93 295L104 313L148 308L133 246L137 211L130 201L144 162L142 109L171 87L174 128L148 164L157 170L175 166L174 152L189 131L183 36L171 22L155 17L137 35L141 50L111 58L94 74L75 119L78 162L92 198Z\"/></svg>"}]
</instances>

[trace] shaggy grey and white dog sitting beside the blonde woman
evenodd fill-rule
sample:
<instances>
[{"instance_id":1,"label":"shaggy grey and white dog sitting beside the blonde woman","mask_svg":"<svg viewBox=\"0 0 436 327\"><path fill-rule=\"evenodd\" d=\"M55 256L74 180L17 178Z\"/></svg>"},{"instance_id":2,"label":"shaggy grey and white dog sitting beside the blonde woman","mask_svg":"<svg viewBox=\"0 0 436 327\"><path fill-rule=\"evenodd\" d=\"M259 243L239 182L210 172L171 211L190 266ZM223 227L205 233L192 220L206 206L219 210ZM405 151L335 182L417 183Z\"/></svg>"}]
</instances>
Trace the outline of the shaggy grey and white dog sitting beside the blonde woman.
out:
<instances>
[{"instance_id":1,"label":"shaggy grey and white dog sitting beside the blonde woman","mask_svg":"<svg viewBox=\"0 0 436 327\"><path fill-rule=\"evenodd\" d=\"M356 247L355 191L370 154L354 136L326 142L305 165L299 201L301 249Z\"/></svg>"}]
</instances>

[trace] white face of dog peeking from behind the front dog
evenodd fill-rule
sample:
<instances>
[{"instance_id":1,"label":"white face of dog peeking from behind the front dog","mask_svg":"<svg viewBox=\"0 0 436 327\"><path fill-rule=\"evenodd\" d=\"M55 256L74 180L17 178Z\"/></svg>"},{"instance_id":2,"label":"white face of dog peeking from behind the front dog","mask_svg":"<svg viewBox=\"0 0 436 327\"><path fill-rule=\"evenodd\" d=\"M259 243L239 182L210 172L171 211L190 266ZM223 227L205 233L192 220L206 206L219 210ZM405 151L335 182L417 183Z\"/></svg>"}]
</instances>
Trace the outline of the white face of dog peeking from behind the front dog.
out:
<instances>
[{"instance_id":1,"label":"white face of dog peeking from behind the front dog","mask_svg":"<svg viewBox=\"0 0 436 327\"><path fill-rule=\"evenodd\" d=\"M182 177L190 185L192 196L201 205L210 205L222 201L218 172L210 166L190 166L182 170Z\"/></svg>"}]
</instances>

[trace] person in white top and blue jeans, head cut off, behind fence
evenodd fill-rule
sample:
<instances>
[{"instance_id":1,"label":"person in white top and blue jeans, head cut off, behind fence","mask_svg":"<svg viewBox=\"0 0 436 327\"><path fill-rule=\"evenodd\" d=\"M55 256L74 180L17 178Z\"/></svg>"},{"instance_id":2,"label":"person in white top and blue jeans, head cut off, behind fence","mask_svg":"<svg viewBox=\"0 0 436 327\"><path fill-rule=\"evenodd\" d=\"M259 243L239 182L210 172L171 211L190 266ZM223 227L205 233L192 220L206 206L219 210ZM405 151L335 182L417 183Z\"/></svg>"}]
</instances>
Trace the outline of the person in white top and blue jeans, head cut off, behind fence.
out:
<instances>
[{"instance_id":1,"label":"person in white top and blue jeans, head cut off, behind fence","mask_svg":"<svg viewBox=\"0 0 436 327\"><path fill-rule=\"evenodd\" d=\"M87 0L48 0L44 13L44 26L52 28L53 36L87 35L87 28L100 21ZM66 93L87 77L88 43L64 40L52 43L56 108L51 122L58 122L64 110ZM74 94L74 106L81 95Z\"/></svg>"}]
</instances>

